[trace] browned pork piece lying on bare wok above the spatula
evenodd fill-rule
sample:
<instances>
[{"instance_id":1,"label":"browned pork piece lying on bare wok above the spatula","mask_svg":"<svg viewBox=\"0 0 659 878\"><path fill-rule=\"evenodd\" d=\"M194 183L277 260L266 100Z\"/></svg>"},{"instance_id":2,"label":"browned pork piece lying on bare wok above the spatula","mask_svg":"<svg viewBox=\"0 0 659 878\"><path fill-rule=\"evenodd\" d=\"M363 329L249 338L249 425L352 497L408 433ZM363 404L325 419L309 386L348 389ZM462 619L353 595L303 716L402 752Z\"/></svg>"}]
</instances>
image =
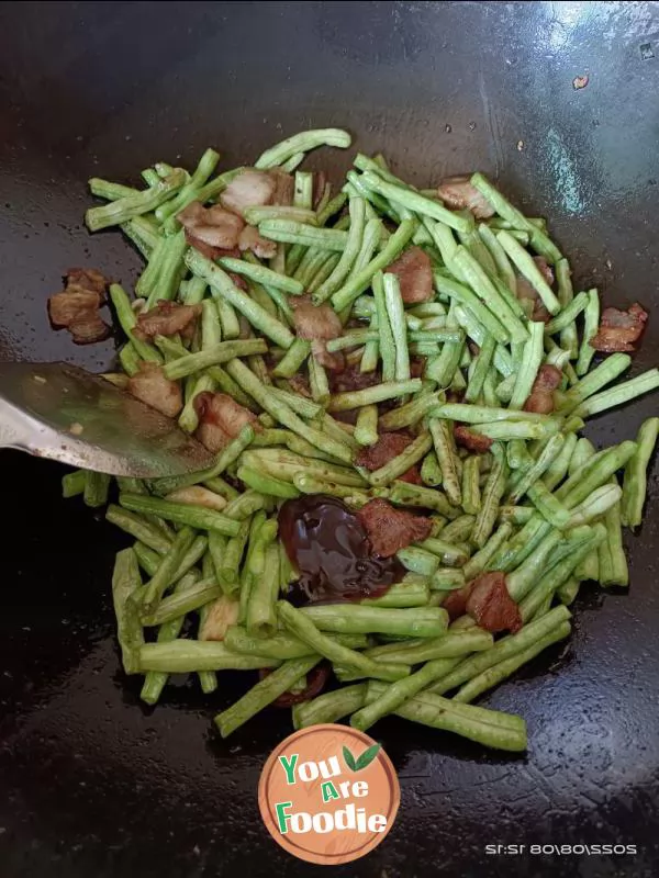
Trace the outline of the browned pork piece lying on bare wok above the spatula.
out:
<instances>
[{"instance_id":1,"label":"browned pork piece lying on bare wok above the spatula","mask_svg":"<svg viewBox=\"0 0 659 878\"><path fill-rule=\"evenodd\" d=\"M48 299L48 318L54 329L68 329L76 345L91 345L110 335L99 315L109 281L96 269L71 268L66 286Z\"/></svg>"}]
</instances>

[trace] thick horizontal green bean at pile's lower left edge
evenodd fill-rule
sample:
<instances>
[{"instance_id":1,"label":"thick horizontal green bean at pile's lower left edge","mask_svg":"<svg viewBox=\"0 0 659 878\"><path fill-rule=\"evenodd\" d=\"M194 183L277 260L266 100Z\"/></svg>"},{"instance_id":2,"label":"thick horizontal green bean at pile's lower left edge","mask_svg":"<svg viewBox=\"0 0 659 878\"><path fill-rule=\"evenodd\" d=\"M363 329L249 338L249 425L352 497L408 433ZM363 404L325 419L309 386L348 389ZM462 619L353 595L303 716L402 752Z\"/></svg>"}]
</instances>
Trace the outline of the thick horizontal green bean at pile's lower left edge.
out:
<instances>
[{"instance_id":1,"label":"thick horizontal green bean at pile's lower left edge","mask_svg":"<svg viewBox=\"0 0 659 878\"><path fill-rule=\"evenodd\" d=\"M317 660L316 660L317 661ZM141 671L165 674L193 674L200 671L256 671L279 663L265 655L241 655L223 642L213 640L172 640L145 643L139 650Z\"/></svg>"}]
</instances>

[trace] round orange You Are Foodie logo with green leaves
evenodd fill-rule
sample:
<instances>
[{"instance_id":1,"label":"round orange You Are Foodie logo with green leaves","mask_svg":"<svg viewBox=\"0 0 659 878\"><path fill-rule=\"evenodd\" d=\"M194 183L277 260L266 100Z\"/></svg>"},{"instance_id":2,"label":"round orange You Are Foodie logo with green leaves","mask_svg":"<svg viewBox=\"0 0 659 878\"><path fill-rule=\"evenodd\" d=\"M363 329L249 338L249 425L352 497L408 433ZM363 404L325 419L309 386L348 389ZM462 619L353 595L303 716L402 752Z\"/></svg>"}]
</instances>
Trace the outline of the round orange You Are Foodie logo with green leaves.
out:
<instances>
[{"instance_id":1,"label":"round orange You Are Foodie logo with green leaves","mask_svg":"<svg viewBox=\"0 0 659 878\"><path fill-rule=\"evenodd\" d=\"M350 863L377 847L400 800L398 777L380 745L330 723L282 741L258 785L270 835L290 854L321 865Z\"/></svg>"}]
</instances>

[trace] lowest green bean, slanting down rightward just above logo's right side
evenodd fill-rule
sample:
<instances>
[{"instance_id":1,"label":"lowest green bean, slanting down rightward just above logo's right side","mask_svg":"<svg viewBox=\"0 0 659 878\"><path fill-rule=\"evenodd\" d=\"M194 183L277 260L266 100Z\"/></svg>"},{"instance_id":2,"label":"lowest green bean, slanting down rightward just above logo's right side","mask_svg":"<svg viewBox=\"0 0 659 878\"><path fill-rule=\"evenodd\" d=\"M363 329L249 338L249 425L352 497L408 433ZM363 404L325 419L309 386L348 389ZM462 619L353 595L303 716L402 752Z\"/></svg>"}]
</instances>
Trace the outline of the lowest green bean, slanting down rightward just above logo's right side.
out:
<instances>
[{"instance_id":1,"label":"lowest green bean, slanting down rightward just above logo's right side","mask_svg":"<svg viewBox=\"0 0 659 878\"><path fill-rule=\"evenodd\" d=\"M382 696L387 688L386 684L369 682L367 703L370 698ZM510 713L454 703L428 691L415 695L393 712L412 722L454 732L494 750L526 750L526 723L521 717Z\"/></svg>"}]
</instances>

